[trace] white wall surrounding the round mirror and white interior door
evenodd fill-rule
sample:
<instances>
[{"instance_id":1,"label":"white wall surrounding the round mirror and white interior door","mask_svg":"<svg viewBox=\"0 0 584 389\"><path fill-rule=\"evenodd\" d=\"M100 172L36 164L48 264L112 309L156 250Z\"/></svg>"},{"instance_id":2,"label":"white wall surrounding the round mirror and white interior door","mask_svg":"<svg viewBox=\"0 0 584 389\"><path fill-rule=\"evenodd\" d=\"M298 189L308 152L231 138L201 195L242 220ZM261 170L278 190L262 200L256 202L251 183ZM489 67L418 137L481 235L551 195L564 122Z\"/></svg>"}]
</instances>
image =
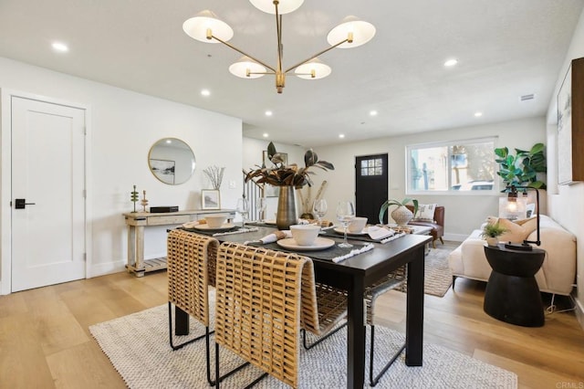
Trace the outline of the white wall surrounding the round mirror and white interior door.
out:
<instances>
[{"instance_id":1,"label":"white wall surrounding the round mirror and white interior door","mask_svg":"<svg viewBox=\"0 0 584 389\"><path fill-rule=\"evenodd\" d=\"M150 205L197 209L201 207L200 190L211 188L203 169L209 165L225 166L222 205L235 208L236 198L242 191L241 120L6 58L0 58L0 88L3 93L16 90L89 107L90 170L87 179L92 230L89 277L123 268L127 240L122 214L132 209L133 184L140 194L146 190ZM2 133L5 131L10 131L9 123L3 121ZM195 173L185 184L162 184L148 168L151 145L166 137L179 138L193 149ZM3 150L9 148L3 147ZM2 155L2 161L3 187L0 191L5 192L0 194L2 198L9 198L4 187L4 183L9 183L10 166L6 163L10 161L9 155ZM235 183L235 188L229 187L230 181ZM10 212L9 204L3 202L0 205L3 226L9 223ZM7 234L9 237L10 231L1 232L4 248L5 237ZM145 258L165 255L165 235L164 227L147 228ZM5 261L10 258L5 258L4 249L3 253L0 268L6 269ZM6 285L9 274L5 273L0 274L0 282ZM2 287L0 290L5 291Z\"/></svg>"}]
</instances>

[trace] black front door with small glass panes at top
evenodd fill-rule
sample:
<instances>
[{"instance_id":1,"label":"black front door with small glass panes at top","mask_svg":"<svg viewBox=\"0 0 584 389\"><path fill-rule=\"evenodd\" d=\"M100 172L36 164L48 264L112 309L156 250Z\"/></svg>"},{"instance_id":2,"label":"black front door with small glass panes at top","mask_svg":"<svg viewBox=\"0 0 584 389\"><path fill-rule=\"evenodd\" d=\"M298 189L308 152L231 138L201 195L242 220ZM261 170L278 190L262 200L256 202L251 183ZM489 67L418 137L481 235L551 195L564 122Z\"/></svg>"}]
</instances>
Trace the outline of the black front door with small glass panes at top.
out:
<instances>
[{"instance_id":1,"label":"black front door with small glass panes at top","mask_svg":"<svg viewBox=\"0 0 584 389\"><path fill-rule=\"evenodd\" d=\"M357 216L366 216L367 223L379 223L381 204L387 200L387 154L355 158L355 206ZM387 214L385 215L387 223Z\"/></svg>"}]
</instances>

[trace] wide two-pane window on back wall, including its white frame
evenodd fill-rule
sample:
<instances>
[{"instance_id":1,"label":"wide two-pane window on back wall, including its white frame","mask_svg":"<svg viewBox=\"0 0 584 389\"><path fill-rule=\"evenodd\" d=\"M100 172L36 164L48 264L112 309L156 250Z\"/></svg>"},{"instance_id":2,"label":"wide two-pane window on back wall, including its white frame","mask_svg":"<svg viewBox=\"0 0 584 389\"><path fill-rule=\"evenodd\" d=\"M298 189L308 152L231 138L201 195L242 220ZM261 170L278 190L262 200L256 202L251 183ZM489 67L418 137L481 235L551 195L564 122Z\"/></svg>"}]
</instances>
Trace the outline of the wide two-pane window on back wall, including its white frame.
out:
<instances>
[{"instance_id":1,"label":"wide two-pane window on back wall, including its white frame","mask_svg":"<svg viewBox=\"0 0 584 389\"><path fill-rule=\"evenodd\" d=\"M495 192L495 138L407 147L408 193Z\"/></svg>"}]
</instances>

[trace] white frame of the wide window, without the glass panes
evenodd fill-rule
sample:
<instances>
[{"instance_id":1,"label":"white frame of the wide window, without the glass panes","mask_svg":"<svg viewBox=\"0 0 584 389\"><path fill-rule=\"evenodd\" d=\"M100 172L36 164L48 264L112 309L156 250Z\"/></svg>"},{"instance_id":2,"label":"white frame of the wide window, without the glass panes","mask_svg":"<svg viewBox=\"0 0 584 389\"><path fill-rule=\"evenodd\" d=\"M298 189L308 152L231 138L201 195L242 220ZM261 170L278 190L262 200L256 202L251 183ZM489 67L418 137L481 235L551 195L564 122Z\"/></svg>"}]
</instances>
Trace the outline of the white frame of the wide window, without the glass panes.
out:
<instances>
[{"instance_id":1,"label":"white frame of the wide window, without the glass panes","mask_svg":"<svg viewBox=\"0 0 584 389\"><path fill-rule=\"evenodd\" d=\"M419 149L429 149L433 147L449 147L461 144L474 144L474 143L485 143L493 142L493 172L498 171L497 164L495 163L495 148L497 147L498 137L489 136L484 138L473 138L473 139L463 139L463 140L453 140L453 141L442 141L442 142L427 142L427 143L416 143L408 144L405 146L405 186L406 195L500 195L499 194L499 176L496 175L493 178L493 188L490 190L479 190L479 191L459 191L452 189L452 183L450 183L450 172L452 170L452 158L448 158L448 187L450 189L438 191L438 190L413 190L412 180L410 174L412 172L412 151Z\"/></svg>"}]
</instances>

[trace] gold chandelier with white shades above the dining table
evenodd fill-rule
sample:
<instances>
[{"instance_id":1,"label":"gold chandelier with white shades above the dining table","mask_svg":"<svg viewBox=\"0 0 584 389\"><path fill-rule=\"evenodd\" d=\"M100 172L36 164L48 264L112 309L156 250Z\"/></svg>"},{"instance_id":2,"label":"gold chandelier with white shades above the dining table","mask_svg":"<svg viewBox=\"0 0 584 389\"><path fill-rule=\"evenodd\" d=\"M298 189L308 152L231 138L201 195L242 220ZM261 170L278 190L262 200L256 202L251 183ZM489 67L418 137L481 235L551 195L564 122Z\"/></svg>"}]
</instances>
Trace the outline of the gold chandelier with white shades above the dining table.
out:
<instances>
[{"instance_id":1,"label":"gold chandelier with white shades above the dining table","mask_svg":"<svg viewBox=\"0 0 584 389\"><path fill-rule=\"evenodd\" d=\"M277 64L275 67L266 65L265 62L250 56L245 51L227 43L234 36L234 30L224 21L218 19L211 11L203 11L183 23L184 32L193 39L206 43L223 43L227 47L244 55L233 65L229 71L241 78L257 79L266 74L276 76L276 90L282 93L286 84L286 75L294 70L301 79L323 79L330 74L330 67L318 60L318 56L335 47L349 48L359 47L369 42L375 35L375 27L368 22L358 20L354 16L348 16L339 26L334 27L327 36L330 47L319 51L289 68L283 68L282 48L282 15L296 11L304 3L304 0L249 0L255 8L267 14L276 15L277 34Z\"/></svg>"}]
</instances>

